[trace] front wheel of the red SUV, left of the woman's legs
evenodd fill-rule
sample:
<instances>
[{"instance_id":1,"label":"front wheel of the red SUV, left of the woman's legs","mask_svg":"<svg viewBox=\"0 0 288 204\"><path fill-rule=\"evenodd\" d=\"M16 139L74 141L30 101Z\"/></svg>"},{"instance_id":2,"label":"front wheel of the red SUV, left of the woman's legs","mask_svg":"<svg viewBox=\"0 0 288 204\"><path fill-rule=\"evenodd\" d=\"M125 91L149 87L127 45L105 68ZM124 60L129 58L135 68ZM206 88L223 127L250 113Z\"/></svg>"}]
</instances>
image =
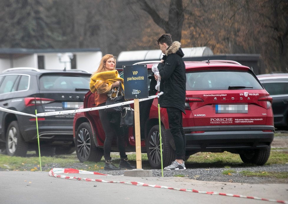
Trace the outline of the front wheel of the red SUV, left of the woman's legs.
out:
<instances>
[{"instance_id":1,"label":"front wheel of the red SUV, left of the woman's legs","mask_svg":"<svg viewBox=\"0 0 288 204\"><path fill-rule=\"evenodd\" d=\"M96 147L90 123L82 123L75 136L75 150L80 162L99 162L103 156L103 150Z\"/></svg>"}]
</instances>

